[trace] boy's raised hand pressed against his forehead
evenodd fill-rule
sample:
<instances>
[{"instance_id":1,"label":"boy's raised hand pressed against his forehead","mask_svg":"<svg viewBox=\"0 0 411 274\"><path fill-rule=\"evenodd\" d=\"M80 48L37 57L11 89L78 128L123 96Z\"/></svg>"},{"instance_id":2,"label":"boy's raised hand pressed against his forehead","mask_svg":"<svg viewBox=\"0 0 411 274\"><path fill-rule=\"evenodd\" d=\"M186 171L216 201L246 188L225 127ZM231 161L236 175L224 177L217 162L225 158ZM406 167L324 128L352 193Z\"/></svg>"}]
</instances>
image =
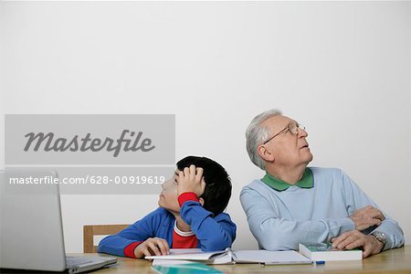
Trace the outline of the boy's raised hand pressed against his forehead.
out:
<instances>
[{"instance_id":1,"label":"boy's raised hand pressed against his forehead","mask_svg":"<svg viewBox=\"0 0 411 274\"><path fill-rule=\"evenodd\" d=\"M201 196L204 193L203 169L195 167L194 164L190 165L190 168L185 167L183 171L179 171L175 181L177 182L177 195L184 192L194 192L195 195Z\"/></svg>"}]
</instances>

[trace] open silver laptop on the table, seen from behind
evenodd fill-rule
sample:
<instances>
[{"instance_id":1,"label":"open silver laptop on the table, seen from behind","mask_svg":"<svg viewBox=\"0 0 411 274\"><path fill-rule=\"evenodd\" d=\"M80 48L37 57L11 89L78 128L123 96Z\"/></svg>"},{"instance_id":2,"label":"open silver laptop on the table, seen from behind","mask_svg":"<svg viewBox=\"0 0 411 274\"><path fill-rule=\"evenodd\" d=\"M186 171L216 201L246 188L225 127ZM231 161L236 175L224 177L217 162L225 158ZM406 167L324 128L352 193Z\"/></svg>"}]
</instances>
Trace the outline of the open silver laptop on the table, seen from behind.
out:
<instances>
[{"instance_id":1,"label":"open silver laptop on the table, seen from behind","mask_svg":"<svg viewBox=\"0 0 411 274\"><path fill-rule=\"evenodd\" d=\"M117 258L103 256L66 257L58 184L45 184L45 179L38 184L39 178L50 182L58 174L38 169L0 171L0 272L80 273L116 263Z\"/></svg>"}]
</instances>

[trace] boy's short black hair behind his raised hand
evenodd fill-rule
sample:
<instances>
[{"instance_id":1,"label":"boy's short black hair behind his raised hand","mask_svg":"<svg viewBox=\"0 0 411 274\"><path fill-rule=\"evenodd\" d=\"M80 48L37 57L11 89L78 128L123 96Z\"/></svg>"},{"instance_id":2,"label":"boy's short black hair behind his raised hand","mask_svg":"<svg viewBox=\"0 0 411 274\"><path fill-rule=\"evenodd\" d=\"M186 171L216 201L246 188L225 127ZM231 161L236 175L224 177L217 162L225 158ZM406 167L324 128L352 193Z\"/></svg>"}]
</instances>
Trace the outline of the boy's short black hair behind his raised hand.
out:
<instances>
[{"instance_id":1,"label":"boy's short black hair behind his raised hand","mask_svg":"<svg viewBox=\"0 0 411 274\"><path fill-rule=\"evenodd\" d=\"M222 213L228 205L231 196L231 179L224 167L206 157L187 156L177 163L177 169L184 170L184 167L203 168L205 180L205 190L200 197L204 199L204 208L214 214Z\"/></svg>"}]
</instances>

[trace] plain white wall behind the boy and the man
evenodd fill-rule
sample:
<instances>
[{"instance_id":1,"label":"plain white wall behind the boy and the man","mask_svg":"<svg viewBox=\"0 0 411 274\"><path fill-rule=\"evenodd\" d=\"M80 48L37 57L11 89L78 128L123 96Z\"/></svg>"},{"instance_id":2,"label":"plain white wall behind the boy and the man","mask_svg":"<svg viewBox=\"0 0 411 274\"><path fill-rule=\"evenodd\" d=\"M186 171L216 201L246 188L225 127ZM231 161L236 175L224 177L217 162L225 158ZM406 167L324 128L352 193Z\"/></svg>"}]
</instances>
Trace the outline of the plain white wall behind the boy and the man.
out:
<instances>
[{"instance_id":1,"label":"plain white wall behind the boy and the man","mask_svg":"<svg viewBox=\"0 0 411 274\"><path fill-rule=\"evenodd\" d=\"M244 131L270 108L306 125L312 165L345 170L411 243L410 3L0 5L2 112L175 113L176 160L231 174L235 248L257 247L238 195L263 175ZM156 202L62 196L67 251L84 224L132 223Z\"/></svg>"}]
</instances>

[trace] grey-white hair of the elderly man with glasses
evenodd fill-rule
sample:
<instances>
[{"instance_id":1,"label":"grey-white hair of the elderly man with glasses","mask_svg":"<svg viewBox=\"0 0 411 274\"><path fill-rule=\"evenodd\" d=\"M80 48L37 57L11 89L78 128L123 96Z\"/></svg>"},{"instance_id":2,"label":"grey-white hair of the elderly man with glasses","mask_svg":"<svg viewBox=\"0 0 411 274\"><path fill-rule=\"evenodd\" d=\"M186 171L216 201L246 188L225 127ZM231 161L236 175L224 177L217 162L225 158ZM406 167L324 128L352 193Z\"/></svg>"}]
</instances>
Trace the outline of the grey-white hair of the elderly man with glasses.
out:
<instances>
[{"instance_id":1,"label":"grey-white hair of the elderly man with glasses","mask_svg":"<svg viewBox=\"0 0 411 274\"><path fill-rule=\"evenodd\" d=\"M269 110L259 113L254 119L249 123L246 130L246 146L249 159L252 163L256 164L260 169L266 170L266 164L264 160L259 156L257 152L258 145L267 141L269 139L269 129L262 126L261 123L267 119L282 115L279 110Z\"/></svg>"}]
</instances>

